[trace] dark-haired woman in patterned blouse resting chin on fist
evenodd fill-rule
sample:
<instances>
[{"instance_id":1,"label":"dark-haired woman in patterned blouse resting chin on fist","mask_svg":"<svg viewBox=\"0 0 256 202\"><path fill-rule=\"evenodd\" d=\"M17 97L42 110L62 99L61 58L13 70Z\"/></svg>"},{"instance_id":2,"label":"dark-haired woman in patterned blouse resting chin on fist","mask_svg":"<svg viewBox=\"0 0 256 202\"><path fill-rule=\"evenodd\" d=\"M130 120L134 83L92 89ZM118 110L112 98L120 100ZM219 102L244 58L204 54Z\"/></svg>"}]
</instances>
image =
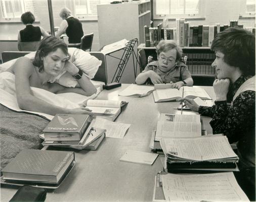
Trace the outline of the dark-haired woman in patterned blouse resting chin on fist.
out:
<instances>
[{"instance_id":1,"label":"dark-haired woman in patterned blouse resting chin on fist","mask_svg":"<svg viewBox=\"0 0 256 202\"><path fill-rule=\"evenodd\" d=\"M255 201L255 36L241 28L228 28L218 33L211 50L217 73L213 87L216 94L212 107L198 106L193 99L184 103L200 115L212 118L214 134L223 133L230 143L237 142L236 179L247 196ZM228 91L232 104L227 105Z\"/></svg>"}]
</instances>

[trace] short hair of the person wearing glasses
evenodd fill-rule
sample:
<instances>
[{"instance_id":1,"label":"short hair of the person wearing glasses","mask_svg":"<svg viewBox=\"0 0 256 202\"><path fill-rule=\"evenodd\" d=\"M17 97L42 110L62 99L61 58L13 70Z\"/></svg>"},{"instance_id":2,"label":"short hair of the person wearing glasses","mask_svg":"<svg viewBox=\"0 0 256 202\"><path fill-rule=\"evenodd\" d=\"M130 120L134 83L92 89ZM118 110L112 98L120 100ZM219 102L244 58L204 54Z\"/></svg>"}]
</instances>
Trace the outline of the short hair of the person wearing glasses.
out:
<instances>
[{"instance_id":1,"label":"short hair of the person wearing glasses","mask_svg":"<svg viewBox=\"0 0 256 202\"><path fill-rule=\"evenodd\" d=\"M157 56L159 56L161 52L165 53L173 48L175 48L177 52L176 61L179 61L182 57L182 49L174 40L160 40L156 46Z\"/></svg>"}]
</instances>

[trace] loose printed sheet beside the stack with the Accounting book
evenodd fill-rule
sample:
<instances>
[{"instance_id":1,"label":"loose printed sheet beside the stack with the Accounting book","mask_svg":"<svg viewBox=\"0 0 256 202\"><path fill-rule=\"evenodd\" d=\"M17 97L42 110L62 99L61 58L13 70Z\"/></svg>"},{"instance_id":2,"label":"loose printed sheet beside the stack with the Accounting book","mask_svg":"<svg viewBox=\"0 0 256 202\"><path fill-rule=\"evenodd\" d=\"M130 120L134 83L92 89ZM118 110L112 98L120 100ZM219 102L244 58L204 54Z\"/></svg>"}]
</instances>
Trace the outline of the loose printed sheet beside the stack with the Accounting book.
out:
<instances>
[{"instance_id":1,"label":"loose printed sheet beside the stack with the Accounting book","mask_svg":"<svg viewBox=\"0 0 256 202\"><path fill-rule=\"evenodd\" d=\"M96 118L94 127L106 129L106 137L123 138L131 124L117 123L103 118Z\"/></svg>"}]
</instances>

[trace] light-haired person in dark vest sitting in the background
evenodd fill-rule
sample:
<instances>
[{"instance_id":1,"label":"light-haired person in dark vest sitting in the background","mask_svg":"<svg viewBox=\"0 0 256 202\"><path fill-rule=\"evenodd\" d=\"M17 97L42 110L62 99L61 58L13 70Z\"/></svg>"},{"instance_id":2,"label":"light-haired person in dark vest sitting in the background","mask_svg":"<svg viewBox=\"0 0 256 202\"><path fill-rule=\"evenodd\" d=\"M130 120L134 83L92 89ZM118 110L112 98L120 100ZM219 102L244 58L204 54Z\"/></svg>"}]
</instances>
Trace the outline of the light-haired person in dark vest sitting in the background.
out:
<instances>
[{"instance_id":1,"label":"light-haired person in dark vest sitting in the background","mask_svg":"<svg viewBox=\"0 0 256 202\"><path fill-rule=\"evenodd\" d=\"M63 21L60 24L58 31L55 32L56 37L60 37L66 32L69 43L80 43L83 36L81 22L74 18L71 11L67 8L63 8L60 11L60 17Z\"/></svg>"}]
</instances>

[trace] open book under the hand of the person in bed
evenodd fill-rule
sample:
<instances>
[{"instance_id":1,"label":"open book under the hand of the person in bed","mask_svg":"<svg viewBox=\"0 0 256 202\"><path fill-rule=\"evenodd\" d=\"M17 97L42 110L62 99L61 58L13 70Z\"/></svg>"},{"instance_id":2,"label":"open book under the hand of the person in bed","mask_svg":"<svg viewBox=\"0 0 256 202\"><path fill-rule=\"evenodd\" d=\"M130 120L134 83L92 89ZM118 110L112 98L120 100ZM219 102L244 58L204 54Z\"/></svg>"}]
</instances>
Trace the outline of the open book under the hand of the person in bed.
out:
<instances>
[{"instance_id":1,"label":"open book under the hand of the person in bed","mask_svg":"<svg viewBox=\"0 0 256 202\"><path fill-rule=\"evenodd\" d=\"M86 107L92 110L95 116L111 117L111 120L115 120L121 112L121 107L125 105L127 102L120 100L89 99Z\"/></svg>"}]
</instances>

